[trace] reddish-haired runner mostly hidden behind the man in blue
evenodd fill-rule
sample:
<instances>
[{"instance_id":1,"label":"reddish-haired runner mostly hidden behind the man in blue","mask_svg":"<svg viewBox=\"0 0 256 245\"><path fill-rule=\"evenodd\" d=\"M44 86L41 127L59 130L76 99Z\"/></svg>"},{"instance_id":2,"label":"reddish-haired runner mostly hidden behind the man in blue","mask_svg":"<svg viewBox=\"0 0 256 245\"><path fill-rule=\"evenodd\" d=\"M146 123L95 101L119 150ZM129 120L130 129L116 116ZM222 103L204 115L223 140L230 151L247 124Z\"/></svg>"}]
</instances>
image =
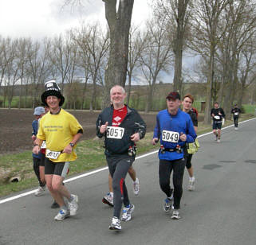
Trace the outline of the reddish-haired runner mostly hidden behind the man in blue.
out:
<instances>
[{"instance_id":1,"label":"reddish-haired runner mostly hidden behind the man in blue","mask_svg":"<svg viewBox=\"0 0 256 245\"><path fill-rule=\"evenodd\" d=\"M191 116L191 120L194 125L195 133L197 133L198 119L197 119L197 114L196 114L195 108L192 108L193 102L194 102L194 98L191 94L187 94L187 95L183 96L183 102L182 102L183 111L187 112L187 114ZM193 154L187 154L187 157L186 157L186 160L187 160L186 168L187 168L187 172L189 174L189 182L188 182L187 189L189 191L195 190L194 168L191 165L192 156L193 156Z\"/></svg>"}]
</instances>

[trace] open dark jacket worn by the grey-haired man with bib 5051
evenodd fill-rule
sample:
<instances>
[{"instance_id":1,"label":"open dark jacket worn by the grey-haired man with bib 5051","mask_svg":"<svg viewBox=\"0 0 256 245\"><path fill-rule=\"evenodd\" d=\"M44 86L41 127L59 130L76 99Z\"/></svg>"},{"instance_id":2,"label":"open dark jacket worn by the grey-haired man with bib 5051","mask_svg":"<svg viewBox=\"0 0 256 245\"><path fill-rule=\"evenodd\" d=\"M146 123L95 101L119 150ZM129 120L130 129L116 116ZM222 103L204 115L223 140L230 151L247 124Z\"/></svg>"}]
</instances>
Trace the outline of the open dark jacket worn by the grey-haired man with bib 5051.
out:
<instances>
[{"instance_id":1,"label":"open dark jacket worn by the grey-haired man with bib 5051","mask_svg":"<svg viewBox=\"0 0 256 245\"><path fill-rule=\"evenodd\" d=\"M146 123L141 119L139 113L130 107L127 107L127 115L120 123L120 127L124 128L124 135L121 139L107 138L106 133L100 134L100 126L108 122L108 126L112 126L112 115L114 107L105 108L101 111L96 121L96 135L99 138L105 137L105 155L111 156L115 154L127 154L129 146L134 146L131 141L132 134L139 133L140 139L146 134Z\"/></svg>"}]
</instances>

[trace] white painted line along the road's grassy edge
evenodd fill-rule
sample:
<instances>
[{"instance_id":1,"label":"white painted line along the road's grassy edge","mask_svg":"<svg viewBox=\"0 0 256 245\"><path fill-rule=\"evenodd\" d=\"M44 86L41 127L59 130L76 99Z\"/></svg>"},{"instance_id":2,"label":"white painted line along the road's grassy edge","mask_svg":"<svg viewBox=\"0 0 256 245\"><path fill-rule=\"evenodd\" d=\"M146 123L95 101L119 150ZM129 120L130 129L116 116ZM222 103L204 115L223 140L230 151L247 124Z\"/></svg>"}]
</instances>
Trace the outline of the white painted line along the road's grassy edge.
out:
<instances>
[{"instance_id":1,"label":"white painted line along the road's grassy edge","mask_svg":"<svg viewBox=\"0 0 256 245\"><path fill-rule=\"evenodd\" d=\"M256 118L254 118L254 119L256 119ZM239 122L239 124L242 124L242 123L244 123L244 122L249 122L249 121L254 120L254 119L248 119L248 120L246 120L246 121ZM226 130L227 128L229 128L229 127L231 127L231 126L234 126L234 125L232 124L232 125L230 125L230 126L225 126L225 127L223 127L222 130ZM198 138L201 138L201 137L206 136L206 135L208 135L208 134L212 134L212 132L208 132L208 133L206 133L206 134L200 134L200 135L198 136ZM158 150L155 150L155 151L152 151L152 152L150 152L150 153L148 153L148 154L141 155L141 156L139 156L139 157L136 157L136 160L138 160L138 159L140 159L140 158L142 158L142 157L148 157L149 155L156 154L157 152L158 152ZM68 182L70 182L70 181L75 181L75 180L80 179L80 178L82 178L82 177L87 177L87 176L89 176L89 175L92 175L92 174L94 174L94 173L98 173L98 172L101 172L101 171L104 171L104 170L107 170L107 169L108 169L108 167L104 167L104 168L101 168L101 169L93 170L92 172L89 172L89 173L83 173L83 174L78 175L78 176L76 176L76 177L71 177L71 178L65 180L64 183L68 183ZM6 203L6 202L8 202L8 201L10 201L10 200L18 199L18 198L20 198L20 197L22 197L22 196L28 196L28 195L30 195L30 194L33 194L33 193L36 192L36 191L37 191L37 189L34 189L34 190L30 191L30 192L24 192L24 193L19 194L19 195L16 195L16 196L8 197L8 198L6 198L6 199L0 200L0 204L4 204L4 203Z\"/></svg>"}]
</instances>

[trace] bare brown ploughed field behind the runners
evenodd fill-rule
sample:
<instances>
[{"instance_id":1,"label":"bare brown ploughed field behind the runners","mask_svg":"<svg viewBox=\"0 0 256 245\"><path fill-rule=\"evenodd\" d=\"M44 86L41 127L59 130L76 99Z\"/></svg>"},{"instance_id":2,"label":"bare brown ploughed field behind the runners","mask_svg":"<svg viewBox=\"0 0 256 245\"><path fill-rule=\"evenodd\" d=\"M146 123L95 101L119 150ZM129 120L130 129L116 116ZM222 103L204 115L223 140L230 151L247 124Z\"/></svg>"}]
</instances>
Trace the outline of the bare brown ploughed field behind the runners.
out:
<instances>
[{"instance_id":1,"label":"bare brown ploughed field behind the runners","mask_svg":"<svg viewBox=\"0 0 256 245\"><path fill-rule=\"evenodd\" d=\"M69 111L83 126L82 139L95 137L95 122L100 113L89 111ZM156 123L156 113L140 114L147 123L147 131L152 131ZM33 110L0 109L0 154L32 150L31 132Z\"/></svg>"}]
</instances>

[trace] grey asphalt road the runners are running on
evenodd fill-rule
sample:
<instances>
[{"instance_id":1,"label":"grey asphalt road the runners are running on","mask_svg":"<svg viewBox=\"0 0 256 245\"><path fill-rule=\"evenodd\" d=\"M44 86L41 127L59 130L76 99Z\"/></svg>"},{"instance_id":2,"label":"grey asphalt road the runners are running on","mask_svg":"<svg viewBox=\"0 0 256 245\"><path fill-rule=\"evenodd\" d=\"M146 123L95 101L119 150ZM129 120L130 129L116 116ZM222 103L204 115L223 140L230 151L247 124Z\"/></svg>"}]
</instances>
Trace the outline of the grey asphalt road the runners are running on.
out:
<instances>
[{"instance_id":1,"label":"grey asphalt road the runners are running on","mask_svg":"<svg viewBox=\"0 0 256 245\"><path fill-rule=\"evenodd\" d=\"M109 231L112 208L101 203L108 188L108 171L67 183L80 197L79 214L57 222L52 199L23 196L0 204L0 244L256 244L256 120L240 130L223 130L222 142L212 134L199 138L201 149L192 159L196 189L188 192L187 171L181 220L163 212L156 154L136 160L141 192L132 193L136 209L121 232Z\"/></svg>"}]
</instances>

